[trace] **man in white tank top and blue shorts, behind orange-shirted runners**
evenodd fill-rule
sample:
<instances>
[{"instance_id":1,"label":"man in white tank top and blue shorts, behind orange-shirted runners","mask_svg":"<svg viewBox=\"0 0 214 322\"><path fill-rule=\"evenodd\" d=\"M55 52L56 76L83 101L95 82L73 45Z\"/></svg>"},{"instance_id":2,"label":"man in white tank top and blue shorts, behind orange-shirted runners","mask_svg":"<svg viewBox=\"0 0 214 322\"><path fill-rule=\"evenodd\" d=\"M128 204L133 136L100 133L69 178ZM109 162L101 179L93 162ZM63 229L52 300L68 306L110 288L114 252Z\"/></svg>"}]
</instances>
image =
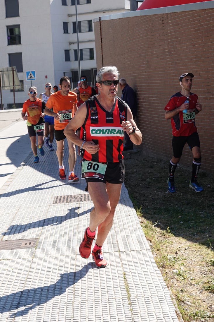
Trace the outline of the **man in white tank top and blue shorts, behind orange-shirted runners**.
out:
<instances>
[{"instance_id":1,"label":"man in white tank top and blue shorts, behind orange-shirted runners","mask_svg":"<svg viewBox=\"0 0 214 322\"><path fill-rule=\"evenodd\" d=\"M47 100L49 99L51 93L51 83L45 84L45 92L41 93L39 96L39 99L41 99L43 102L47 103ZM53 151L54 148L52 146L53 139L54 139L54 117L45 115L45 147L49 147L50 151Z\"/></svg>"}]
</instances>

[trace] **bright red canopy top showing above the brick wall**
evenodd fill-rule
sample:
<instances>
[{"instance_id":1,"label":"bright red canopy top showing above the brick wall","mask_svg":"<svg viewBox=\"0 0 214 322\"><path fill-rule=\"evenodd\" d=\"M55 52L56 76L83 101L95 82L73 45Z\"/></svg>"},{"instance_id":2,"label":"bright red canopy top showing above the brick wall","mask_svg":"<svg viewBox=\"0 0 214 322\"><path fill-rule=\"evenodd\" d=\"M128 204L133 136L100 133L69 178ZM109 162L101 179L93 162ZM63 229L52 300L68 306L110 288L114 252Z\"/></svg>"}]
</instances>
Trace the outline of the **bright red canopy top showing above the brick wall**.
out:
<instances>
[{"instance_id":1,"label":"bright red canopy top showing above the brick wall","mask_svg":"<svg viewBox=\"0 0 214 322\"><path fill-rule=\"evenodd\" d=\"M205 2L209 0L174 0L173 5L185 5L188 3ZM144 0L137 10L161 8L172 6L172 0Z\"/></svg>"}]
</instances>

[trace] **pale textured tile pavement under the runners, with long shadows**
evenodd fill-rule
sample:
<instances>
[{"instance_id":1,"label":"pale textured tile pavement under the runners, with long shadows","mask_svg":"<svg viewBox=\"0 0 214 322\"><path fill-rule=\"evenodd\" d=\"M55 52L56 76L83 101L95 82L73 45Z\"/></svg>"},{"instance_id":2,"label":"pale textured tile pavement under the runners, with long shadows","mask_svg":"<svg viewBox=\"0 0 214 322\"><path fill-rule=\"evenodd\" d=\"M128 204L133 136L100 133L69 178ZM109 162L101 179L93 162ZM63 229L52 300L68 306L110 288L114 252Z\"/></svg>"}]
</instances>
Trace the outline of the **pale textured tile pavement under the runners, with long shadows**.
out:
<instances>
[{"instance_id":1,"label":"pale textured tile pavement under the runners, with long shadows","mask_svg":"<svg viewBox=\"0 0 214 322\"><path fill-rule=\"evenodd\" d=\"M55 151L34 164L29 150L0 188L0 322L178 321L125 185L103 245L108 266L81 258L93 203L85 180L59 179ZM66 145L68 176L67 159Z\"/></svg>"}]
</instances>

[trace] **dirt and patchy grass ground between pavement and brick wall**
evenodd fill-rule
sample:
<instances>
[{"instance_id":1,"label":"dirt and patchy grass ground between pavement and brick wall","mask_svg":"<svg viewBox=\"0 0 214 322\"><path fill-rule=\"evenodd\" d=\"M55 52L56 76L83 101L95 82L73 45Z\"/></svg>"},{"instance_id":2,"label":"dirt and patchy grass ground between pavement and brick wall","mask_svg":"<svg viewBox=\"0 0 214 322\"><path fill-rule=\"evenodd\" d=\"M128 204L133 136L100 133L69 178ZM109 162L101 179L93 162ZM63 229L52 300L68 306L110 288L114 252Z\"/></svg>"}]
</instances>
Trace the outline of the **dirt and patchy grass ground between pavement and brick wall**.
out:
<instances>
[{"instance_id":1,"label":"dirt and patchy grass ground between pavement and brick wall","mask_svg":"<svg viewBox=\"0 0 214 322\"><path fill-rule=\"evenodd\" d=\"M125 154L125 185L156 264L185 322L212 321L214 313L214 175L200 170L204 191L189 188L190 167L177 166L176 193L167 192L168 161Z\"/></svg>"}]
</instances>

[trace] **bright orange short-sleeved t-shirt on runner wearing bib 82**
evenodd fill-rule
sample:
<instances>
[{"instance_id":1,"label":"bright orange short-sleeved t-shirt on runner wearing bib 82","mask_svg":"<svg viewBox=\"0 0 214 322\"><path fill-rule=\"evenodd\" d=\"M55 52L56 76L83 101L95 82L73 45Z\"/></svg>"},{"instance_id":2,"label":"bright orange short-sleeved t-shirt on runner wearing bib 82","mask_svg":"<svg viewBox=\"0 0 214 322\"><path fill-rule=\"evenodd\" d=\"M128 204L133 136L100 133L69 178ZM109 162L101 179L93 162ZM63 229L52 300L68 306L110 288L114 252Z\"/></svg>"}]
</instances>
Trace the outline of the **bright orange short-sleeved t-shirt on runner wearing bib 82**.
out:
<instances>
[{"instance_id":1,"label":"bright orange short-sleeved t-shirt on runner wearing bib 82","mask_svg":"<svg viewBox=\"0 0 214 322\"><path fill-rule=\"evenodd\" d=\"M54 113L61 115L59 120L54 118L55 130L63 130L74 116L74 106L77 103L76 97L77 95L74 92L69 92L67 96L63 96L60 90L49 97L46 107L48 109L53 108Z\"/></svg>"}]
</instances>

